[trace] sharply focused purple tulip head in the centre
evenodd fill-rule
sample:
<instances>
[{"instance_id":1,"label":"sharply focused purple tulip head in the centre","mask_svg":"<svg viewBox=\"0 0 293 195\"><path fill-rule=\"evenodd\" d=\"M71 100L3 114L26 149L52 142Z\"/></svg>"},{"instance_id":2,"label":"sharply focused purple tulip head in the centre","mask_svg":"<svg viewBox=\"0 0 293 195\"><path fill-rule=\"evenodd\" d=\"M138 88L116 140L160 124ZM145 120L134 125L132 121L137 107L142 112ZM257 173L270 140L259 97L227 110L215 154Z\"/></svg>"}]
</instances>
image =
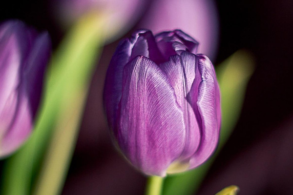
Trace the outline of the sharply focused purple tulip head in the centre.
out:
<instances>
[{"instance_id":1,"label":"sharply focused purple tulip head in the centre","mask_svg":"<svg viewBox=\"0 0 293 195\"><path fill-rule=\"evenodd\" d=\"M215 150L220 92L213 65L180 30L123 40L105 80L105 110L126 158L147 175L192 169Z\"/></svg>"}]
</instances>

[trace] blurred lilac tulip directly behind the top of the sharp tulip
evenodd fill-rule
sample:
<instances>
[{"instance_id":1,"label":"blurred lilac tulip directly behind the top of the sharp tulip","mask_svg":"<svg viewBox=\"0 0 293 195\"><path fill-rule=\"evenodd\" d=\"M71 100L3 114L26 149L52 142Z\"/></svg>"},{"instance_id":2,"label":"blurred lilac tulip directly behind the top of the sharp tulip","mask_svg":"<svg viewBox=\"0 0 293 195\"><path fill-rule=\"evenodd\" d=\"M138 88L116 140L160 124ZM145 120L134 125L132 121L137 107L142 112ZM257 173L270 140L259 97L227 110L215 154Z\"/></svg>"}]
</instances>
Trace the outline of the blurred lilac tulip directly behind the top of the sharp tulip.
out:
<instances>
[{"instance_id":1,"label":"blurred lilac tulip directly behind the top of the sharp tulip","mask_svg":"<svg viewBox=\"0 0 293 195\"><path fill-rule=\"evenodd\" d=\"M154 0L138 27L154 33L182 29L200 42L199 53L216 56L219 27L214 0Z\"/></svg>"}]
</instances>

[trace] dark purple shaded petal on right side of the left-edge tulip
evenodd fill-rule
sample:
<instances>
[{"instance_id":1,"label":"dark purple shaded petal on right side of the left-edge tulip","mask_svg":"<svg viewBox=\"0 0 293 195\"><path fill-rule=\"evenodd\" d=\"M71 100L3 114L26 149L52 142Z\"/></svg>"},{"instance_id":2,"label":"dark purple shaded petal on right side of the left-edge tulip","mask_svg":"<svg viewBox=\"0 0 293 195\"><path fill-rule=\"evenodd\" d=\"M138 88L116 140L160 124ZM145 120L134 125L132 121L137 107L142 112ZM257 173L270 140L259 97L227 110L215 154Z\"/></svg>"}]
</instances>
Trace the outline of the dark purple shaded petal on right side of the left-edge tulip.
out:
<instances>
[{"instance_id":1,"label":"dark purple shaded petal on right side of the left-edge tulip","mask_svg":"<svg viewBox=\"0 0 293 195\"><path fill-rule=\"evenodd\" d=\"M51 53L51 41L48 33L42 33L32 46L23 70L23 87L25 87L29 97L29 107L35 117L41 99L41 81Z\"/></svg>"}]
</instances>

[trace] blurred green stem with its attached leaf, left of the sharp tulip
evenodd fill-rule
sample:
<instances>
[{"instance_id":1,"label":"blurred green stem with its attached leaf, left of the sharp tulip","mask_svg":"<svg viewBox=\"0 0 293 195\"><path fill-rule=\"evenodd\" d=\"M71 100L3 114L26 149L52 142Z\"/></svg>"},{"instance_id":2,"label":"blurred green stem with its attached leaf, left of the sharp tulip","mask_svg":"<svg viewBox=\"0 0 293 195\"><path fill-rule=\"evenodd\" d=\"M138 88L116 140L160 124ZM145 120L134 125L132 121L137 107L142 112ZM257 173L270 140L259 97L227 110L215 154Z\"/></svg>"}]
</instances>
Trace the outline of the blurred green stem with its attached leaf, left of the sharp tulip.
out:
<instances>
[{"instance_id":1,"label":"blurred green stem with its attached leaf, left of the sharp tulip","mask_svg":"<svg viewBox=\"0 0 293 195\"><path fill-rule=\"evenodd\" d=\"M60 194L104 43L102 19L97 14L82 18L53 55L33 135L5 163L3 195Z\"/></svg>"}]
</instances>

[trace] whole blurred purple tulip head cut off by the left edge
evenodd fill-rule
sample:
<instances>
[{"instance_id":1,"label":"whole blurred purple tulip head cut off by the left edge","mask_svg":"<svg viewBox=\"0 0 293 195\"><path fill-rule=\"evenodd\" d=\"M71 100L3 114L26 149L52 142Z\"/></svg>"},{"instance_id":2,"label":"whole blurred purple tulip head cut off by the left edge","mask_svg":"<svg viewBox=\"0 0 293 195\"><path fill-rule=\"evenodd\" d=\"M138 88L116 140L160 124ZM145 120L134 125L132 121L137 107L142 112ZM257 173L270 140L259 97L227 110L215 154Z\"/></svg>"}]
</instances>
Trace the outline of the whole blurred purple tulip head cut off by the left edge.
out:
<instances>
[{"instance_id":1,"label":"whole blurred purple tulip head cut off by the left edge","mask_svg":"<svg viewBox=\"0 0 293 195\"><path fill-rule=\"evenodd\" d=\"M0 25L0 157L31 134L50 51L47 33L18 20Z\"/></svg>"}]
</instances>

